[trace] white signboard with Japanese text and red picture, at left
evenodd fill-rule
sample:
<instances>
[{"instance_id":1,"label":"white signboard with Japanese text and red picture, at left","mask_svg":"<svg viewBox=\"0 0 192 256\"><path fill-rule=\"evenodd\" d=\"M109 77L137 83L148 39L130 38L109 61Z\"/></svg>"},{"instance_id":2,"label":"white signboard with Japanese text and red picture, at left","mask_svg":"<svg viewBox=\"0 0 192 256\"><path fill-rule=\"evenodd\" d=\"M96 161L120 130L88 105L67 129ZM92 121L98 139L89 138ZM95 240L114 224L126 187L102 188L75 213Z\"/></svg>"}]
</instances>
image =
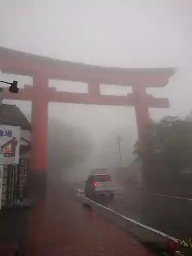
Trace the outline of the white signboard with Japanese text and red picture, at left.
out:
<instances>
[{"instance_id":1,"label":"white signboard with Japanese text and red picture, at left","mask_svg":"<svg viewBox=\"0 0 192 256\"><path fill-rule=\"evenodd\" d=\"M0 164L18 164L20 127L0 125Z\"/></svg>"}]
</instances>

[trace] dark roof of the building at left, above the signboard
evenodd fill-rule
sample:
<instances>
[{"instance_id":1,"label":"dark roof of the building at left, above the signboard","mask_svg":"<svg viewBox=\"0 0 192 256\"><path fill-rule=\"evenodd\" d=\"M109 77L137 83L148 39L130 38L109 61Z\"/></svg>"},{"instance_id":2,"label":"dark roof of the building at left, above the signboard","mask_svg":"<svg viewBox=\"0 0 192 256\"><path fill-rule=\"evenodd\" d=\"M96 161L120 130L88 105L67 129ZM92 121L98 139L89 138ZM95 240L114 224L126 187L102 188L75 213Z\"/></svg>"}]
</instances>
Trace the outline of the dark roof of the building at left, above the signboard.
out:
<instances>
[{"instance_id":1,"label":"dark roof of the building at left, above the signboard","mask_svg":"<svg viewBox=\"0 0 192 256\"><path fill-rule=\"evenodd\" d=\"M30 122L16 105L0 105L0 124L20 126L22 130L32 131Z\"/></svg>"}]
</instances>

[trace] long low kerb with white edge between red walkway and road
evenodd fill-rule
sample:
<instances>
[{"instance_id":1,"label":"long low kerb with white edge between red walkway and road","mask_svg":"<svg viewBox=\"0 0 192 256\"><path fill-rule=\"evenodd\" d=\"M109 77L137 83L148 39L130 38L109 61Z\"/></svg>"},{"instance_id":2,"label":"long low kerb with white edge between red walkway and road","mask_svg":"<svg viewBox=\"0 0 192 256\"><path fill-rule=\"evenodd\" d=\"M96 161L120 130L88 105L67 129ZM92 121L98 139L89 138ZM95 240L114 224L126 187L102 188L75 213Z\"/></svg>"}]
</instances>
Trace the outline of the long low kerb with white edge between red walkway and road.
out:
<instances>
[{"instance_id":1,"label":"long low kerb with white edge between red walkway and road","mask_svg":"<svg viewBox=\"0 0 192 256\"><path fill-rule=\"evenodd\" d=\"M77 197L81 203L89 205L92 210L98 212L103 218L113 222L124 231L132 233L132 235L142 243L156 245L161 250L172 251L175 252L175 255L182 256L178 252L178 239L121 215L85 197L82 193L77 194Z\"/></svg>"}]
</instances>

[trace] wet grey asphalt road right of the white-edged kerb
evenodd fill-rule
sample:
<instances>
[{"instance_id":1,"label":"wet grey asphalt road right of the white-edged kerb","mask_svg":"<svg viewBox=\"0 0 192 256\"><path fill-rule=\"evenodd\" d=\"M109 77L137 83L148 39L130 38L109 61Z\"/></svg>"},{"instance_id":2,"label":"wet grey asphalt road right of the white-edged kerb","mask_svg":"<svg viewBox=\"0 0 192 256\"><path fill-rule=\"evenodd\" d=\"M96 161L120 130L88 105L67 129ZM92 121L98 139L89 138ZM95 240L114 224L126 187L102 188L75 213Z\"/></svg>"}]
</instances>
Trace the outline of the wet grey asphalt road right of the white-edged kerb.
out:
<instances>
[{"instance_id":1,"label":"wet grey asphalt road right of the white-edged kerb","mask_svg":"<svg viewBox=\"0 0 192 256\"><path fill-rule=\"evenodd\" d=\"M179 239L192 236L192 199L121 190L113 200L99 197L97 202L170 236Z\"/></svg>"}]
</instances>

